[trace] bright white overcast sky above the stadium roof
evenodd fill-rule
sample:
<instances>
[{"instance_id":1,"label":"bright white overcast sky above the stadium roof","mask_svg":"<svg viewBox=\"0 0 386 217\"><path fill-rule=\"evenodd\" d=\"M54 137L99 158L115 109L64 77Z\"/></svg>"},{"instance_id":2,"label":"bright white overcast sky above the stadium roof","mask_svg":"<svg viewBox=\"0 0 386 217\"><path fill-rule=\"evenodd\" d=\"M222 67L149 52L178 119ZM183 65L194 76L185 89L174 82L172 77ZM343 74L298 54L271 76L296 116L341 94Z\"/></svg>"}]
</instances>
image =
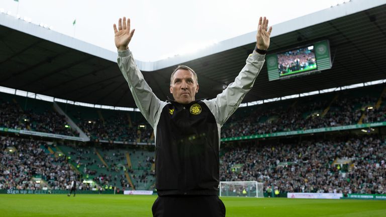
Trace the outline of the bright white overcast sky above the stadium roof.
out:
<instances>
[{"instance_id":1,"label":"bright white overcast sky above the stadium roof","mask_svg":"<svg viewBox=\"0 0 386 217\"><path fill-rule=\"evenodd\" d=\"M13 16L18 10L32 23L47 24L54 31L112 51L116 51L113 24L129 17L136 29L130 50L138 60L155 61L255 31L260 16L266 16L271 26L336 2L343 0L0 0L0 8Z\"/></svg>"}]
</instances>

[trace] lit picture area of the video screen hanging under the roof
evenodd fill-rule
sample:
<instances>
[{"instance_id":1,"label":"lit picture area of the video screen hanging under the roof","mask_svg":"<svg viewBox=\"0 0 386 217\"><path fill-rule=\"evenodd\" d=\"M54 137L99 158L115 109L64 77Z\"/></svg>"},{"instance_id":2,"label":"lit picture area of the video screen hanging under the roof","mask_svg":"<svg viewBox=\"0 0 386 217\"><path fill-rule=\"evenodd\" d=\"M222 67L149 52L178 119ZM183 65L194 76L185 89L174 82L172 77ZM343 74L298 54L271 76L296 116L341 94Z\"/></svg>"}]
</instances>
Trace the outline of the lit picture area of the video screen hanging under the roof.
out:
<instances>
[{"instance_id":1,"label":"lit picture area of the video screen hanging under the roof","mask_svg":"<svg viewBox=\"0 0 386 217\"><path fill-rule=\"evenodd\" d=\"M316 70L317 65L314 46L308 46L277 54L277 65L280 77Z\"/></svg>"}]
</instances>

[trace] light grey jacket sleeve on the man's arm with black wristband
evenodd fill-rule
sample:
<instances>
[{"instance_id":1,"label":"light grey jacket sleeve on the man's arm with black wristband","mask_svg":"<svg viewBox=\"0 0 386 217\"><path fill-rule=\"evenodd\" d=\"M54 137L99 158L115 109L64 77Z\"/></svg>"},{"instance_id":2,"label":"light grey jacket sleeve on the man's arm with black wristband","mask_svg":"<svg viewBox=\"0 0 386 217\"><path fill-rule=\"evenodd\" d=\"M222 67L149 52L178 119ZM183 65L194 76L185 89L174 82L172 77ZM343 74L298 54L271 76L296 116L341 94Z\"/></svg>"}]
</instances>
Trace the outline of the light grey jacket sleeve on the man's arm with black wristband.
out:
<instances>
[{"instance_id":1,"label":"light grey jacket sleeve on the man's arm with black wristband","mask_svg":"<svg viewBox=\"0 0 386 217\"><path fill-rule=\"evenodd\" d=\"M228 118L237 110L245 94L252 89L264 61L265 55L253 51L233 83L229 84L216 98L203 100L220 126L224 125Z\"/></svg>"}]
</instances>

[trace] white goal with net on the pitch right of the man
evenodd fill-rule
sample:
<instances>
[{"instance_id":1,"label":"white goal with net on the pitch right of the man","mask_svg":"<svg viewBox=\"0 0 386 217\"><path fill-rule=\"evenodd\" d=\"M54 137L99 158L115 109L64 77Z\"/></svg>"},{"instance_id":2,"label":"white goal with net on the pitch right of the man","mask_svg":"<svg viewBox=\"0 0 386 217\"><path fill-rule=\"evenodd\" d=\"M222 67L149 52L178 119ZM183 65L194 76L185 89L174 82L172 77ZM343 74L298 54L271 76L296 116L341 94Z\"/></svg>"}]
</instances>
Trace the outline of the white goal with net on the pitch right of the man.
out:
<instances>
[{"instance_id":1,"label":"white goal with net on the pitch right of the man","mask_svg":"<svg viewBox=\"0 0 386 217\"><path fill-rule=\"evenodd\" d=\"M222 181L220 196L264 197L263 183L257 181Z\"/></svg>"}]
</instances>

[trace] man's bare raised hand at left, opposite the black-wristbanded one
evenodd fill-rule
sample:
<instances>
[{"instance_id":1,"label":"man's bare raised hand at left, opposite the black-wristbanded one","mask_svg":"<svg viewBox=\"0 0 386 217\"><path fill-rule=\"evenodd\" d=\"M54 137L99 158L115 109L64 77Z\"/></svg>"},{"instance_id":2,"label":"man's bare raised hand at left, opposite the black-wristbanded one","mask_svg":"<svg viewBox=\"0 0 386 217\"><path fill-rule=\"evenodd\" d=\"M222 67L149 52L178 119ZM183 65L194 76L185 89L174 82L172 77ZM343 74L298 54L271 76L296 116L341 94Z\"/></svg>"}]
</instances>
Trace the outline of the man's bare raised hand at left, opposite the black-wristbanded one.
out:
<instances>
[{"instance_id":1,"label":"man's bare raised hand at left, opposite the black-wristbanded one","mask_svg":"<svg viewBox=\"0 0 386 217\"><path fill-rule=\"evenodd\" d=\"M130 31L130 19L127 19L126 22L126 17L123 17L122 22L122 19L120 18L118 21L118 29L115 24L113 25L113 28L115 33L115 46L118 48L118 50L127 50L135 31L135 29Z\"/></svg>"}]
</instances>

